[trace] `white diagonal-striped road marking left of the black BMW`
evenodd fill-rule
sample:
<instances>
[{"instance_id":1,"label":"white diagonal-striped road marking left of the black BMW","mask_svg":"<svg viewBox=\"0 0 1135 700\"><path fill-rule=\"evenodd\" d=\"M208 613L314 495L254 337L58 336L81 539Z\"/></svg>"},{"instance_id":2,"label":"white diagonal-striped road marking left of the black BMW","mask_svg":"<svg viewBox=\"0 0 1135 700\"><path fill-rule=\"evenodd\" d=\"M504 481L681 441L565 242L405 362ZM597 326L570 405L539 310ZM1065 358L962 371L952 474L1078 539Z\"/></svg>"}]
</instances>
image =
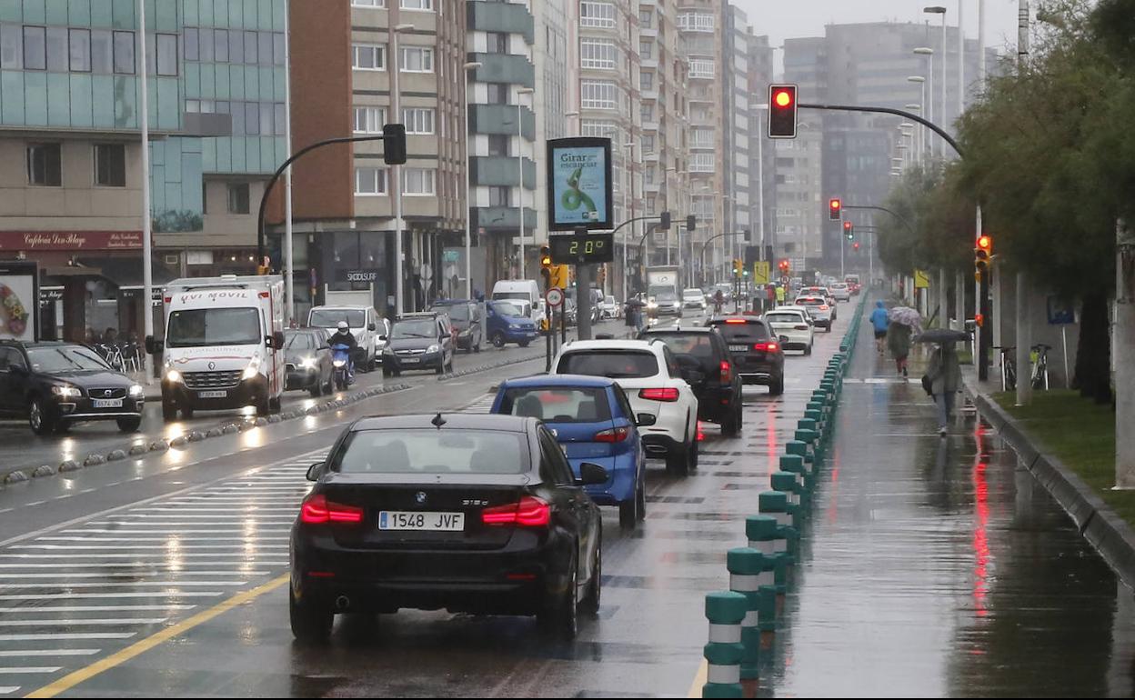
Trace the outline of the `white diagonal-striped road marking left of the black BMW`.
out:
<instances>
[{"instance_id":1,"label":"white diagonal-striped road marking left of the black BMW","mask_svg":"<svg viewBox=\"0 0 1135 700\"><path fill-rule=\"evenodd\" d=\"M0 697L177 624L288 566L323 450L0 549Z\"/></svg>"}]
</instances>

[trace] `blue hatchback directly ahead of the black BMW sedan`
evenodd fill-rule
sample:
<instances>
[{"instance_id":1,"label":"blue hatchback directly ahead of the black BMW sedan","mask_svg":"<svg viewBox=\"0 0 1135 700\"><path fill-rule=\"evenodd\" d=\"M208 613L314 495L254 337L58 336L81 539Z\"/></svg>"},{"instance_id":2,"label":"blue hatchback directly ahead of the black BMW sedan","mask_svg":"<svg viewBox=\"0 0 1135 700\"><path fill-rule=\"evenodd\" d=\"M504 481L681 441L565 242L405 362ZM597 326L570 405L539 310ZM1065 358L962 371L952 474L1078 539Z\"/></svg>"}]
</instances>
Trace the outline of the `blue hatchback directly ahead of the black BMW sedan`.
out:
<instances>
[{"instance_id":1,"label":"blue hatchback directly ahead of the black BMW sedan","mask_svg":"<svg viewBox=\"0 0 1135 700\"><path fill-rule=\"evenodd\" d=\"M543 420L577 476L583 462L607 470L606 483L587 487L595 503L619 506L623 528L633 528L646 516L646 453L631 403L613 379L575 374L508 379L497 391L493 413Z\"/></svg>"}]
</instances>

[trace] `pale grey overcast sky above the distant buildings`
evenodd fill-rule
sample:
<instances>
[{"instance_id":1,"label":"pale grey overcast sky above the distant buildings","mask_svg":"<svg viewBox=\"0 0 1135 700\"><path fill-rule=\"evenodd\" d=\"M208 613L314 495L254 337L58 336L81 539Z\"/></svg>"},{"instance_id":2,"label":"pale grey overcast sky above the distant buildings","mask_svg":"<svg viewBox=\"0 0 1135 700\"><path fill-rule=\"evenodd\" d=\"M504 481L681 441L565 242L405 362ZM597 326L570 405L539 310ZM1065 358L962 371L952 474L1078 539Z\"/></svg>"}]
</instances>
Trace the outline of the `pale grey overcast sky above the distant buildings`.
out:
<instances>
[{"instance_id":1,"label":"pale grey overcast sky above the distant buildings","mask_svg":"<svg viewBox=\"0 0 1135 700\"><path fill-rule=\"evenodd\" d=\"M977 39L977 1L965 2L966 36ZM785 39L823 36L824 25L858 22L925 22L941 26L923 8L947 8L947 23L958 24L958 0L731 0L749 16L757 34L768 34L774 47ZM1031 3L1034 8L1036 2ZM985 44L1002 48L1017 43L1017 0L985 0ZM776 57L777 65L781 57Z\"/></svg>"}]
</instances>

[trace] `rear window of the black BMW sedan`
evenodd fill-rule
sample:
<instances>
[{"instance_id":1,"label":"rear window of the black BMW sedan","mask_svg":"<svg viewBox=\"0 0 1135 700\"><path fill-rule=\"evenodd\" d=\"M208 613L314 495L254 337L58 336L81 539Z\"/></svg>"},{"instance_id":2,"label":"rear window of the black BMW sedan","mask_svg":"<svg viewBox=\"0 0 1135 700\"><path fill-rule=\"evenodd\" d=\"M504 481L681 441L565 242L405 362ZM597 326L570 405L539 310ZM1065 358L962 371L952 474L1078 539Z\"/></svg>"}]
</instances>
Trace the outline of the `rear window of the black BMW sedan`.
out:
<instances>
[{"instance_id":1,"label":"rear window of the black BMW sedan","mask_svg":"<svg viewBox=\"0 0 1135 700\"><path fill-rule=\"evenodd\" d=\"M465 429L360 430L331 459L344 474L520 474L529 469L521 432Z\"/></svg>"}]
</instances>

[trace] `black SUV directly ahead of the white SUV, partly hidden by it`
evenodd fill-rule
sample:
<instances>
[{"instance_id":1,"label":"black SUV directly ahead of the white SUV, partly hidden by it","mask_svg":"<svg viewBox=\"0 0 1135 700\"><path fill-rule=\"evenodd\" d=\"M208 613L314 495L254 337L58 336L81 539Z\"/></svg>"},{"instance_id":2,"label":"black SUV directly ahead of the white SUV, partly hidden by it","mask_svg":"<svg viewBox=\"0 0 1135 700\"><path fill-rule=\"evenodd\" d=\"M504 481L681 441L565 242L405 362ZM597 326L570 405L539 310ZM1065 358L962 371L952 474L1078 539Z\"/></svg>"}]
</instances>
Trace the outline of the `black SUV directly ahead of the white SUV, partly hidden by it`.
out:
<instances>
[{"instance_id":1,"label":"black SUV directly ahead of the white SUV, partly hidden by it","mask_svg":"<svg viewBox=\"0 0 1135 700\"><path fill-rule=\"evenodd\" d=\"M655 327L639 334L641 340L654 338L666 344L683 370L696 370L687 381L698 397L698 419L718 423L726 436L740 435L745 413L741 377L717 329Z\"/></svg>"}]
</instances>

